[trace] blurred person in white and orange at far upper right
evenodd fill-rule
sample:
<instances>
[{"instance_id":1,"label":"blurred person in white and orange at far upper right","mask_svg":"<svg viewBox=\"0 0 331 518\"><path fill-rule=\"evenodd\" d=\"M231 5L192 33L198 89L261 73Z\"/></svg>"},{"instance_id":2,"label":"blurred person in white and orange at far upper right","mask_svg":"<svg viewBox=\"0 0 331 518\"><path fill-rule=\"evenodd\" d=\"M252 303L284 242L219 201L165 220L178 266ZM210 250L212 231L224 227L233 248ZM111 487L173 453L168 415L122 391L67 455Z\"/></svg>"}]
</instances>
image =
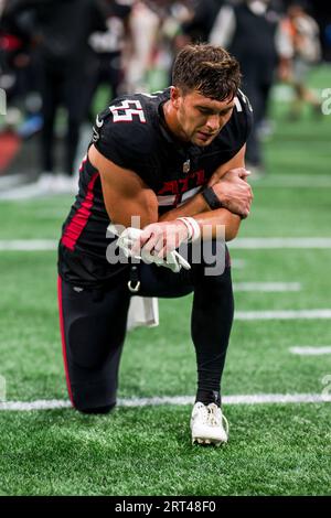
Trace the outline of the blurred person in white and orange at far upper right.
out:
<instances>
[{"instance_id":1,"label":"blurred person in white and orange at far upper right","mask_svg":"<svg viewBox=\"0 0 331 518\"><path fill-rule=\"evenodd\" d=\"M320 31L317 22L307 13L302 0L290 3L278 34L280 55L279 78L293 89L289 118L297 120L306 104L321 115L319 97L307 86L312 66L321 60Z\"/></svg>"}]
</instances>

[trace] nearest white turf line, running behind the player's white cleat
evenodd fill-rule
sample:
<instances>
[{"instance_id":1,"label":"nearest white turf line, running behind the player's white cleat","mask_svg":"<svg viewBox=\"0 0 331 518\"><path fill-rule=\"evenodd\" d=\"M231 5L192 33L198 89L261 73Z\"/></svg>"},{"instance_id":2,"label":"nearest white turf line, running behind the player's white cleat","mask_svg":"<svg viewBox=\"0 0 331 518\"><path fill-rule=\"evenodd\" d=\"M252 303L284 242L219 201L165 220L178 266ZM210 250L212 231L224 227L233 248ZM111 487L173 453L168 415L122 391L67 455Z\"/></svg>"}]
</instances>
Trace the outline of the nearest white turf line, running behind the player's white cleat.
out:
<instances>
[{"instance_id":1,"label":"nearest white turf line, running behind the player's white cleat","mask_svg":"<svg viewBox=\"0 0 331 518\"><path fill-rule=\"evenodd\" d=\"M289 403L322 403L331 402L331 395L321 393L253 393L224 396L222 398L224 404L289 404ZM137 408L137 407L159 407L161 404L193 404L193 396L174 396L159 398L131 398L119 399L118 407ZM0 402L0 411L31 411L31 410L56 410L71 408L68 400L51 399L36 401L8 401Z\"/></svg>"}]
</instances>

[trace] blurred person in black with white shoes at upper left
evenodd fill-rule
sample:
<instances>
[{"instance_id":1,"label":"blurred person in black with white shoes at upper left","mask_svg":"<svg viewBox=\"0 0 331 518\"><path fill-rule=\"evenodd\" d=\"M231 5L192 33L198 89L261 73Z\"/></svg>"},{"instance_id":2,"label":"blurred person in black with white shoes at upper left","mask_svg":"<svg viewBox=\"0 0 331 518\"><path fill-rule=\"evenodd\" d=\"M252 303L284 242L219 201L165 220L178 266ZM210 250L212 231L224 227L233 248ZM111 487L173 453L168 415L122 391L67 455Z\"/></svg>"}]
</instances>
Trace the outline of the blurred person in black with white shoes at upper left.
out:
<instances>
[{"instance_id":1,"label":"blurred person in black with white shoes at upper left","mask_svg":"<svg viewBox=\"0 0 331 518\"><path fill-rule=\"evenodd\" d=\"M24 24L29 13L32 24ZM4 7L7 20L24 31L39 60L43 127L41 132L42 174L38 188L72 191L81 123L86 114L89 71L94 53L88 36L106 30L95 0L11 0ZM55 120L57 108L66 111L67 134L63 174L55 175Z\"/></svg>"}]
</instances>

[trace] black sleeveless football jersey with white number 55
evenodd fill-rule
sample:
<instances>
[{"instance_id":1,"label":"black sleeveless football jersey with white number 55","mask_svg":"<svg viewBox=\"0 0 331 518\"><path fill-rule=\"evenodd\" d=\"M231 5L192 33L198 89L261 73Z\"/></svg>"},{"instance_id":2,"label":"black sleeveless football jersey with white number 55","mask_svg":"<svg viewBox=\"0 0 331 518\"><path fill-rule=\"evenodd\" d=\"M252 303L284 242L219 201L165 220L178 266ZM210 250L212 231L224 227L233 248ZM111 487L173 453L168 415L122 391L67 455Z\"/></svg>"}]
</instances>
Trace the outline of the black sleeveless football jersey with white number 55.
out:
<instances>
[{"instance_id":1,"label":"black sleeveless football jersey with white number 55","mask_svg":"<svg viewBox=\"0 0 331 518\"><path fill-rule=\"evenodd\" d=\"M98 114L90 142L104 157L143 180L158 197L160 215L202 190L213 172L242 149L252 127L252 107L239 91L231 119L210 145L180 142L164 125L162 105L169 98L170 88L115 99ZM106 259L109 223L99 173L85 157L79 192L60 242L64 280L86 287L104 284L126 268Z\"/></svg>"}]
</instances>

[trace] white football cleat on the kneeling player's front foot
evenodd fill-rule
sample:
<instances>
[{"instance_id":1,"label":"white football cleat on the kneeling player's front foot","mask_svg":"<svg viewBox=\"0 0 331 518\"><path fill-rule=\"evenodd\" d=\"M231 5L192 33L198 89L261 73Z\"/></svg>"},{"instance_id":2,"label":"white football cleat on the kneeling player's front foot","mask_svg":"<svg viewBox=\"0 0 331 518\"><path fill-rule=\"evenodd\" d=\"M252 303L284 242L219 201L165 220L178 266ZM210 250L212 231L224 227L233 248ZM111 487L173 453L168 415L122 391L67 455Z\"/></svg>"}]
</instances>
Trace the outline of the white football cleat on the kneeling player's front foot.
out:
<instances>
[{"instance_id":1,"label":"white football cleat on the kneeling player's front foot","mask_svg":"<svg viewBox=\"0 0 331 518\"><path fill-rule=\"evenodd\" d=\"M225 428L224 428L225 427ZM228 422L217 404L197 401L191 416L192 444L220 444L227 442Z\"/></svg>"}]
</instances>

